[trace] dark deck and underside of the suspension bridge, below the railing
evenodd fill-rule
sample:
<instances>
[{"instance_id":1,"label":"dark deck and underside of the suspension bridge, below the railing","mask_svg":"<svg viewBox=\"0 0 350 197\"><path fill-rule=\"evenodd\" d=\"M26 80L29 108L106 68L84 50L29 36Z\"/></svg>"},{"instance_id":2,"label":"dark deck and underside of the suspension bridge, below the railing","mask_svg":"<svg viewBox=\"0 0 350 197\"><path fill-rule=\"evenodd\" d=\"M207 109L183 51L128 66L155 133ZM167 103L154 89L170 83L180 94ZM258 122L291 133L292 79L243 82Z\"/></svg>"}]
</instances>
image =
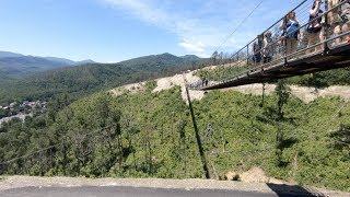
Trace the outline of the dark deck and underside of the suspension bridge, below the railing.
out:
<instances>
[{"instance_id":1,"label":"dark deck and underside of the suspension bridge, below the railing","mask_svg":"<svg viewBox=\"0 0 350 197\"><path fill-rule=\"evenodd\" d=\"M243 84L264 83L277 79L314 73L325 70L338 69L350 66L350 44L343 44L329 49L327 54L314 53L310 55L299 56L298 59L277 62L272 66L262 66L247 70L244 73L237 74L231 79L212 83L207 86L191 88L195 90L215 90Z\"/></svg>"}]
</instances>

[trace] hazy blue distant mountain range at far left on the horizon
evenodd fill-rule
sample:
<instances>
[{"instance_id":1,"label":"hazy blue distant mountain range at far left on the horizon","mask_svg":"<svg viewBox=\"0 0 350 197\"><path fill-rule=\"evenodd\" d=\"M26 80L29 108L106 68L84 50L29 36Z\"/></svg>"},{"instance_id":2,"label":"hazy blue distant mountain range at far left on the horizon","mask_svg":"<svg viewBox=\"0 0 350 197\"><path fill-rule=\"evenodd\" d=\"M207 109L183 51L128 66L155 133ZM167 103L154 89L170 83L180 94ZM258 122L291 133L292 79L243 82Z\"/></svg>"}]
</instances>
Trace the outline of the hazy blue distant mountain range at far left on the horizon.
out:
<instances>
[{"instance_id":1,"label":"hazy blue distant mountain range at far left on the horizon","mask_svg":"<svg viewBox=\"0 0 350 197\"><path fill-rule=\"evenodd\" d=\"M18 79L40 71L89 63L94 63L94 61L72 61L56 57L24 56L10 51L0 51L0 77L2 79Z\"/></svg>"}]
</instances>

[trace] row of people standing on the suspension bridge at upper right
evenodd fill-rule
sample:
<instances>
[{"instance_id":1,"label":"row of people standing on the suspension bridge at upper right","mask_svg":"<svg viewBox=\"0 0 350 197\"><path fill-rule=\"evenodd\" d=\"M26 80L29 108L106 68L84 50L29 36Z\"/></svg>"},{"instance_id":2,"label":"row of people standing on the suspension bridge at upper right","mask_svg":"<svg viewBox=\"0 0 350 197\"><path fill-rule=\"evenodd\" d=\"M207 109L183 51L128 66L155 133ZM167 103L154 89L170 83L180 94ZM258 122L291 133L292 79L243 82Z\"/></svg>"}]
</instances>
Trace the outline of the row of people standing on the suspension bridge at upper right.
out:
<instances>
[{"instance_id":1,"label":"row of people standing on the suspension bridge at upper right","mask_svg":"<svg viewBox=\"0 0 350 197\"><path fill-rule=\"evenodd\" d=\"M283 18L279 26L282 33L273 36L275 39L270 31L258 35L252 49L254 66L270 62L273 56L279 53L278 50L283 50L288 59L292 59L293 54L298 51L298 47L304 43L306 43L306 54L314 50L320 51L324 49L323 43L327 38L327 31L335 37L331 42L332 46L350 43L349 34L340 36L350 30L350 0L328 0L325 7L328 10L327 13L323 11L322 3L323 0L314 0L308 11L310 19L304 31L296 19L295 12L291 11Z\"/></svg>"}]
</instances>

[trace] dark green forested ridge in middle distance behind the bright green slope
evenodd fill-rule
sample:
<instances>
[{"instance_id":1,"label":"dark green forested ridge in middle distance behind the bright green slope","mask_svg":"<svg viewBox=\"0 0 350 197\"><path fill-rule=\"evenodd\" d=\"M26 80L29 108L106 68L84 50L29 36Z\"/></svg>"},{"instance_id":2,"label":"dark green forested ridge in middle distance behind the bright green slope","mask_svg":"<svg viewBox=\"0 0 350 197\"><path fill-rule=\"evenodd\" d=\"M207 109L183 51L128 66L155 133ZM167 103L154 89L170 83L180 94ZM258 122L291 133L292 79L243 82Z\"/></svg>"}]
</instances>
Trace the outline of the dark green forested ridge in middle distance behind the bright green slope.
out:
<instances>
[{"instance_id":1,"label":"dark green forested ridge in middle distance behind the bright green slope","mask_svg":"<svg viewBox=\"0 0 350 197\"><path fill-rule=\"evenodd\" d=\"M14 101L48 100L69 94L77 100L121 84L171 76L199 67L205 60L171 54L145 56L119 63L92 63L50 70L22 80L0 80L0 105Z\"/></svg>"}]
</instances>

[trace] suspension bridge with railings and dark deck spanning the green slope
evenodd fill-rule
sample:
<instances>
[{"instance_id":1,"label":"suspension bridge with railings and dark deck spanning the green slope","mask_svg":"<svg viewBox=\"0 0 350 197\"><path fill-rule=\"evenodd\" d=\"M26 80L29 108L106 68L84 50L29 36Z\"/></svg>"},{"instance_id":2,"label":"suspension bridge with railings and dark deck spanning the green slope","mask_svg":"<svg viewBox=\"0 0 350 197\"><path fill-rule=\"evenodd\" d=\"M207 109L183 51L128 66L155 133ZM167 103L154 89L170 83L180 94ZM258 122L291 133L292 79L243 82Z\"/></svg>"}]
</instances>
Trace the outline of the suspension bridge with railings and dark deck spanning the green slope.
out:
<instances>
[{"instance_id":1,"label":"suspension bridge with railings and dark deck spanning the green slope","mask_svg":"<svg viewBox=\"0 0 350 197\"><path fill-rule=\"evenodd\" d=\"M330 22L330 14L337 15L341 13L341 9L348 0L339 1L338 4L329 7L328 1L320 5L322 14L317 14L314 19L310 19L310 10L312 9L314 0L304 0L292 11L296 15L300 26L294 32L282 34L282 25L285 18L283 16L273 25L262 32L261 37L267 33L272 34L272 42L261 48L259 51L253 51L253 47L258 43L258 38L249 42L246 46L241 48L237 53L231 56L230 59L218 67L223 68L224 74L217 81L196 82L188 84L191 90L217 90L231 86L238 86L252 83L273 82L278 79L290 78L294 76L302 76L306 73L315 73L325 70L345 68L350 66L350 40L346 37L350 35L350 24L348 21L348 30L338 34L335 33L336 25ZM322 21L322 34L317 42L311 43L307 27L316 21ZM339 26L338 26L339 27ZM285 31L285 28L284 28ZM305 34L302 40L298 42L295 51L288 51L287 39L293 33ZM281 36L283 35L283 36ZM301 36L300 36L301 37ZM255 63L254 56L257 53L261 54L266 48L272 49L272 59L266 63ZM240 70L230 71L230 69Z\"/></svg>"}]
</instances>

